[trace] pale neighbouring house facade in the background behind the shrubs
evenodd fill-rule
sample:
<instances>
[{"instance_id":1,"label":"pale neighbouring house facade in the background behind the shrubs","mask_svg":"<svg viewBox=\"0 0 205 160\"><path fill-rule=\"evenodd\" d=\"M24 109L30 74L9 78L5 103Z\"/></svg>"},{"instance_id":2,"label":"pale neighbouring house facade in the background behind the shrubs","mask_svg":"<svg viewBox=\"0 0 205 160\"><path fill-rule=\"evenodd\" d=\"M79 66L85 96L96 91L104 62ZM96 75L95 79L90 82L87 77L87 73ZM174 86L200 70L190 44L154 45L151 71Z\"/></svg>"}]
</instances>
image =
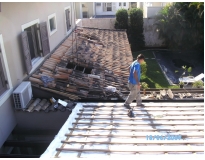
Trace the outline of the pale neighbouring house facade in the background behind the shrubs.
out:
<instances>
[{"instance_id":1,"label":"pale neighbouring house facade in the background behind the shrubs","mask_svg":"<svg viewBox=\"0 0 205 160\"><path fill-rule=\"evenodd\" d=\"M76 2L76 18L114 16L118 9L141 8L144 18L154 17L164 6L172 2Z\"/></svg>"}]
</instances>

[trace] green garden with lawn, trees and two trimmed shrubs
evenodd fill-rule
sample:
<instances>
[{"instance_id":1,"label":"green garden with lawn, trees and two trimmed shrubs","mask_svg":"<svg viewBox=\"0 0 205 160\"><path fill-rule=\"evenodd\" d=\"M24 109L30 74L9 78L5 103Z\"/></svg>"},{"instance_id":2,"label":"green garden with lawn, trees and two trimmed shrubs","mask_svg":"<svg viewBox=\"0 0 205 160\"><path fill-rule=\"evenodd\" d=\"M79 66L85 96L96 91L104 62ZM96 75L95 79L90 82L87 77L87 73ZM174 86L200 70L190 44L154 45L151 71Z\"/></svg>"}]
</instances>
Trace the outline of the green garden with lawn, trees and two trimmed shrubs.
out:
<instances>
[{"instance_id":1,"label":"green garden with lawn, trees and two trimmed shrubs","mask_svg":"<svg viewBox=\"0 0 205 160\"><path fill-rule=\"evenodd\" d=\"M168 52L146 50L141 9L120 9L116 13L115 28L127 30L133 58L140 53L146 57L146 74L142 74L141 82L149 88L179 88L180 77L204 73L203 2L167 5L156 15L153 25ZM170 85L169 78L174 85Z\"/></svg>"}]
</instances>

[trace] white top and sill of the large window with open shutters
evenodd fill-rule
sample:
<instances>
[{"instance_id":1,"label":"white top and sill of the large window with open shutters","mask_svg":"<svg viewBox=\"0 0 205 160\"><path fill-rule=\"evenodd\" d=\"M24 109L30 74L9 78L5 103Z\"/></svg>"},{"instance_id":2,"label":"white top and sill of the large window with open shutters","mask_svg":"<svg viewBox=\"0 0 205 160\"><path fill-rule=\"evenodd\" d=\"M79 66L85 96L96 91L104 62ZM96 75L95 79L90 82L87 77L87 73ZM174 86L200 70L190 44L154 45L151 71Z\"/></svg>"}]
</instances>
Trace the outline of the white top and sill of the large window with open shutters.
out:
<instances>
[{"instance_id":1,"label":"white top and sill of the large window with open shutters","mask_svg":"<svg viewBox=\"0 0 205 160\"><path fill-rule=\"evenodd\" d=\"M21 26L21 30L22 30L22 32L26 29L26 28L28 28L28 27L30 27L30 26L33 26L34 24L40 24L40 20L39 19L35 19L35 20L33 20L33 21L30 21L30 22L28 22L28 23L25 23L25 24L23 24L22 26ZM46 57L46 56L45 56ZM30 73L32 73L38 66L39 66L39 64L41 64L41 62L43 62L43 60L44 60L44 58L45 57L36 57L36 58L33 58L32 60L31 60L31 63L32 63L32 69L31 69L31 71L30 71ZM29 73L29 74L30 74Z\"/></svg>"}]
</instances>

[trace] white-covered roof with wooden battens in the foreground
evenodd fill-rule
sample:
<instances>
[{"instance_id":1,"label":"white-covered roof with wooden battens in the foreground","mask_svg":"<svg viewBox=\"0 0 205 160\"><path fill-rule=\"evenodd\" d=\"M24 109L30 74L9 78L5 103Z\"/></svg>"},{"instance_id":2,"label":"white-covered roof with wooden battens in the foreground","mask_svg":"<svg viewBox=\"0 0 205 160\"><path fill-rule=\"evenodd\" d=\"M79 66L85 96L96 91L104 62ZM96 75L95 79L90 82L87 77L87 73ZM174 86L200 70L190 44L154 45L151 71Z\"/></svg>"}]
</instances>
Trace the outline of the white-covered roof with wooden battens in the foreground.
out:
<instances>
[{"instance_id":1,"label":"white-covered roof with wooden battens in the foreground","mask_svg":"<svg viewBox=\"0 0 205 160\"><path fill-rule=\"evenodd\" d=\"M122 103L78 103L41 158L149 154L202 159L203 102L145 103L143 108L134 108L135 118L129 118L127 111ZM181 135L181 139L149 140L150 135Z\"/></svg>"}]
</instances>

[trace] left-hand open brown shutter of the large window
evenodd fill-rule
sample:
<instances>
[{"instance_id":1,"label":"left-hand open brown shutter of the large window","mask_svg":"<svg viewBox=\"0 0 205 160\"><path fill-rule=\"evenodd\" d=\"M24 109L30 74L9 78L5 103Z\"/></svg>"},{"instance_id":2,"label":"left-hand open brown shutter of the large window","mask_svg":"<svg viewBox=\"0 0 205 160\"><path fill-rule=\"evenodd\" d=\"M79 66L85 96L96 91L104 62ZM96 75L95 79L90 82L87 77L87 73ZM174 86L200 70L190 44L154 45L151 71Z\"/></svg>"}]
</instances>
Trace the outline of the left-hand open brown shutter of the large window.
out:
<instances>
[{"instance_id":1,"label":"left-hand open brown shutter of the large window","mask_svg":"<svg viewBox=\"0 0 205 160\"><path fill-rule=\"evenodd\" d=\"M30 55L28 36L26 31L23 31L21 33L21 41L22 41L22 48L23 48L26 70L27 73L29 74L32 69L32 64L31 64L31 55Z\"/></svg>"}]
</instances>

